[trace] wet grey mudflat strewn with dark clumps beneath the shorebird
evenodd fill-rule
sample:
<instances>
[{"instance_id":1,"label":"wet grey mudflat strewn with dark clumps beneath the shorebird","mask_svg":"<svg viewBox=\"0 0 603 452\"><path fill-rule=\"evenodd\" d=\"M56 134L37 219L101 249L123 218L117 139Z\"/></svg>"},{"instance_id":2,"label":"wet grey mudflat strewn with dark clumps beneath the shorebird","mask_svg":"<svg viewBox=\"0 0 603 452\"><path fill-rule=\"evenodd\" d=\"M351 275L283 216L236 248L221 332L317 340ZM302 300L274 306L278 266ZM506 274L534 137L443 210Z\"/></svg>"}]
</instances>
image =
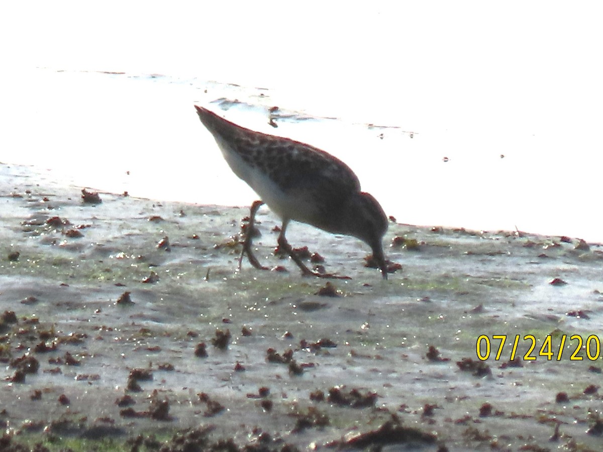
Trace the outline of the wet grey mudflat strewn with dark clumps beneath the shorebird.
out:
<instances>
[{"instance_id":1,"label":"wet grey mudflat strewn with dark clumps beneath the shorebird","mask_svg":"<svg viewBox=\"0 0 603 452\"><path fill-rule=\"evenodd\" d=\"M256 256L287 271L236 272L247 208L0 168L6 448L600 447L598 244L392 222L383 281L358 240L292 225L352 278L327 284L273 255L268 210Z\"/></svg>"}]
</instances>

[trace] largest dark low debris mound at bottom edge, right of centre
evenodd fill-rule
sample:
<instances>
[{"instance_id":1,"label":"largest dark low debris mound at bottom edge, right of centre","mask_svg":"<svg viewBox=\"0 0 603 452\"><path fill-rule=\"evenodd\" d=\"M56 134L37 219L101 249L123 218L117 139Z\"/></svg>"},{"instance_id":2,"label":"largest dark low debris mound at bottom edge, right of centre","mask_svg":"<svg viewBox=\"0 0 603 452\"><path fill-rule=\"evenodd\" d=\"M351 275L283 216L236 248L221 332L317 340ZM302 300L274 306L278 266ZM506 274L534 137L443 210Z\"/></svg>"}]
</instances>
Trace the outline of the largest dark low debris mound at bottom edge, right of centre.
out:
<instances>
[{"instance_id":1,"label":"largest dark low debris mound at bottom edge, right of centre","mask_svg":"<svg viewBox=\"0 0 603 452\"><path fill-rule=\"evenodd\" d=\"M336 448L337 450L369 449L379 450L380 446L387 444L434 444L437 436L433 433L421 432L418 428L404 427L396 415L385 421L381 427L366 433L359 433L347 439L332 441L326 444L326 447Z\"/></svg>"}]
</instances>

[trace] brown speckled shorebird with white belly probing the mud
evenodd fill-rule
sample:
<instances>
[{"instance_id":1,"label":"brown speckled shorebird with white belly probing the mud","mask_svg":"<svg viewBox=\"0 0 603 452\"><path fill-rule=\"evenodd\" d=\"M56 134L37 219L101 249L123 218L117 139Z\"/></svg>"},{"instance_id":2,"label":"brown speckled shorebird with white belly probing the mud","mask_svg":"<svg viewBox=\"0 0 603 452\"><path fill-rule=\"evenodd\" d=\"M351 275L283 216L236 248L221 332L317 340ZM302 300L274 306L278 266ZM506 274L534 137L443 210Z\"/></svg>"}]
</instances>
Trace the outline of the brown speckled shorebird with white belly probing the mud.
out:
<instances>
[{"instance_id":1,"label":"brown speckled shorebird with white belly probing the mud","mask_svg":"<svg viewBox=\"0 0 603 452\"><path fill-rule=\"evenodd\" d=\"M218 143L230 169L261 198L251 205L242 251L242 254L247 253L251 265L267 269L260 265L251 251L254 216L265 203L282 219L277 243L304 275L347 278L313 271L302 262L285 238L291 220L333 234L354 236L367 243L384 279L387 279L382 246L387 216L373 196L361 192L358 177L349 166L314 146L256 132L227 121L207 108L197 105L195 108L199 119Z\"/></svg>"}]
</instances>

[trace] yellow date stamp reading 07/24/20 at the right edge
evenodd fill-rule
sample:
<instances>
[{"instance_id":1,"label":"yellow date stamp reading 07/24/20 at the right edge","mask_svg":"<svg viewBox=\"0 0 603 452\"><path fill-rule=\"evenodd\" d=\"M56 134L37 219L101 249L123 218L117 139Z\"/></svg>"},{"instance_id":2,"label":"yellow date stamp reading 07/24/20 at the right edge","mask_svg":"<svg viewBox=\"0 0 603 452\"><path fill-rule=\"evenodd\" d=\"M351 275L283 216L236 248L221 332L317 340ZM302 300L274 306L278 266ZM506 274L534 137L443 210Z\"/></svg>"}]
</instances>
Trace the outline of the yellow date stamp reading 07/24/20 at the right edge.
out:
<instances>
[{"instance_id":1,"label":"yellow date stamp reading 07/24/20 at the right edge","mask_svg":"<svg viewBox=\"0 0 603 452\"><path fill-rule=\"evenodd\" d=\"M507 342L507 338L509 342ZM511 340L513 340L512 344ZM548 361L561 361L564 353L566 356L570 354L569 359L572 361L582 361L585 356L590 361L596 361L601 357L601 340L596 334L591 334L586 339L580 334L573 334L569 337L567 334L555 337L548 334L540 347L537 342L533 334L525 334L523 337L520 334L516 334L515 337L507 336L507 334L493 334L492 336L482 334L476 342L476 353L481 361L485 361L491 356L494 357L494 360L506 359L506 353L509 350L511 351L509 355L511 361L518 358L535 361L538 357L546 358ZM520 345L522 349L527 346L528 350L525 353L520 352L518 350ZM583 347L584 351L582 351ZM496 355L494 355L494 351L496 351ZM503 355L503 351L505 351L505 355Z\"/></svg>"}]
</instances>

